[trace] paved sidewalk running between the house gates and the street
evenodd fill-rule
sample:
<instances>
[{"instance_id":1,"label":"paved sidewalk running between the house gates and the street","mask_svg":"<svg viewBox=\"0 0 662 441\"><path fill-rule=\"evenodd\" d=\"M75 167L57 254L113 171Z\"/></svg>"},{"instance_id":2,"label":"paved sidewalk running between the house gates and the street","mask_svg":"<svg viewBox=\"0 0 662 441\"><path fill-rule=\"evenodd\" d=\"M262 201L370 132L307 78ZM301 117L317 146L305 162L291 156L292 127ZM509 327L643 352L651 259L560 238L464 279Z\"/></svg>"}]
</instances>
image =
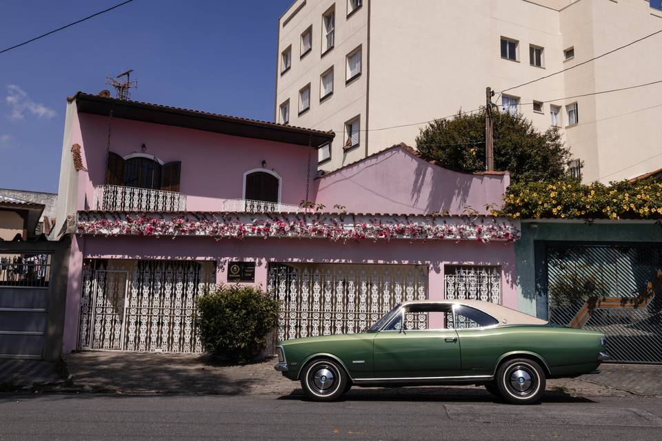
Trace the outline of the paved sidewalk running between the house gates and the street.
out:
<instances>
[{"instance_id":1,"label":"paved sidewalk running between the house gates and the street","mask_svg":"<svg viewBox=\"0 0 662 441\"><path fill-rule=\"evenodd\" d=\"M251 365L223 365L195 354L90 351L68 354L64 361L58 364L0 360L0 391L280 396L303 393L299 382L274 371L274 359ZM597 375L548 380L547 390L551 396L662 396L662 366L606 364ZM476 396L487 392L482 387L454 386L375 388L371 393L397 397L401 393Z\"/></svg>"}]
</instances>

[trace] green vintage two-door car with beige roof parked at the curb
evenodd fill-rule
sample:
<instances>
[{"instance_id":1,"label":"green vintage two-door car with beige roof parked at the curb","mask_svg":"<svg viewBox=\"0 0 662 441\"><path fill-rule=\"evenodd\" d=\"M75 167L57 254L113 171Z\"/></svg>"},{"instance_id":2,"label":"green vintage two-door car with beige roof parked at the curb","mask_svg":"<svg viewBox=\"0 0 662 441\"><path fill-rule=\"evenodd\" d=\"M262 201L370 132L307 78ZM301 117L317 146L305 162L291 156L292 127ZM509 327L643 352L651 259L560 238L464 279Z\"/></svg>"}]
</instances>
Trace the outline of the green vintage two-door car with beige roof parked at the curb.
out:
<instances>
[{"instance_id":1,"label":"green vintage two-door car with beige roof parked at the curb","mask_svg":"<svg viewBox=\"0 0 662 441\"><path fill-rule=\"evenodd\" d=\"M319 401L352 385L476 384L531 404L545 378L594 372L608 359L600 332L556 327L478 300L405 302L360 334L286 340L277 353L275 369Z\"/></svg>"}]
</instances>

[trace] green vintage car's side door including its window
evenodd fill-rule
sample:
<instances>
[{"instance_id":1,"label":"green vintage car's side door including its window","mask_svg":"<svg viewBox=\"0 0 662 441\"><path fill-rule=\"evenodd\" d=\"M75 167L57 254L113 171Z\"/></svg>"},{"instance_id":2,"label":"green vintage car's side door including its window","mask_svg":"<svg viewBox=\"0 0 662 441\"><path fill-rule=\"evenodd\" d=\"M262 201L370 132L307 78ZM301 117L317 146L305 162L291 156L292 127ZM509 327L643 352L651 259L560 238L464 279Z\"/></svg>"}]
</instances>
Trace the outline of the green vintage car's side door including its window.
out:
<instances>
[{"instance_id":1,"label":"green vintage car's side door including its window","mask_svg":"<svg viewBox=\"0 0 662 441\"><path fill-rule=\"evenodd\" d=\"M459 376L457 333L444 326L448 311L447 305L439 304L408 307L379 331L373 340L375 378Z\"/></svg>"}]
</instances>

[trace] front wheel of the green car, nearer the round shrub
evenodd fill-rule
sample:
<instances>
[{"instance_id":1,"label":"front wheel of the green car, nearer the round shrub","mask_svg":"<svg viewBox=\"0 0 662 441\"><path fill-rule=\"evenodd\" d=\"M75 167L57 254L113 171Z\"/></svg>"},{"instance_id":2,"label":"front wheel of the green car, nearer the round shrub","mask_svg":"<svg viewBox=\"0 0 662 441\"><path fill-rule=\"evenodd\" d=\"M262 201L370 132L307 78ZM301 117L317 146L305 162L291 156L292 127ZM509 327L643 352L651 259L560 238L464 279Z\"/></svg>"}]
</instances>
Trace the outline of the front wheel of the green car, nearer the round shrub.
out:
<instances>
[{"instance_id":1,"label":"front wheel of the green car, nearer the round shrub","mask_svg":"<svg viewBox=\"0 0 662 441\"><path fill-rule=\"evenodd\" d=\"M334 360L312 360L301 372L301 387L315 401L337 400L350 386L345 369Z\"/></svg>"}]
</instances>

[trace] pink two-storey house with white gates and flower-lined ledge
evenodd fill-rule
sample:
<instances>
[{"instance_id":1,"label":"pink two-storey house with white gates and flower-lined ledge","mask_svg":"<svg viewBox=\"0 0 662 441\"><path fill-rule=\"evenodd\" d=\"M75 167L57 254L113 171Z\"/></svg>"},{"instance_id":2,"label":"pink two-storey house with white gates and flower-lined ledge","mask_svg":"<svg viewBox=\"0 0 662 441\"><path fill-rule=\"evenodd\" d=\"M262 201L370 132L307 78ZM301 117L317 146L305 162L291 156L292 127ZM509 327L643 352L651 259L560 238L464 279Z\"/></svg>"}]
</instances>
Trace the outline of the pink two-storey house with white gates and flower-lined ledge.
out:
<instances>
[{"instance_id":1,"label":"pink two-storey house with white gates and flower-lined ledge","mask_svg":"<svg viewBox=\"0 0 662 441\"><path fill-rule=\"evenodd\" d=\"M394 145L318 176L333 137L69 99L53 229L72 235L63 351L201 351L196 299L225 283L281 300L280 339L361 331L414 298L517 307L519 224L486 208L508 174L451 172Z\"/></svg>"}]
</instances>

